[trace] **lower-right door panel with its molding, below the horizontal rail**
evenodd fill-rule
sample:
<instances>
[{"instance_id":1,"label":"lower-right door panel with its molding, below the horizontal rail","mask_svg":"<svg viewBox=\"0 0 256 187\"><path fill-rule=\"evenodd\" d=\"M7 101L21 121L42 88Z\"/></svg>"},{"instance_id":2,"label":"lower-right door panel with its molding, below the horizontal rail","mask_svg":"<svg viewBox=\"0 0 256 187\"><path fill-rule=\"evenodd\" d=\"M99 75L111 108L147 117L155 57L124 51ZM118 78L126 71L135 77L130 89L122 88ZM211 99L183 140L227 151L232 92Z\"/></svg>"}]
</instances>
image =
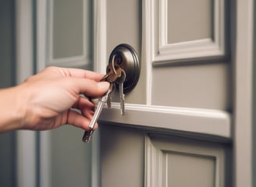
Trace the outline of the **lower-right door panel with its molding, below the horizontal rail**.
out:
<instances>
[{"instance_id":1,"label":"lower-right door panel with its molding, below the horizontal rail","mask_svg":"<svg viewBox=\"0 0 256 187\"><path fill-rule=\"evenodd\" d=\"M159 134L145 139L145 186L230 186L229 146Z\"/></svg>"}]
</instances>

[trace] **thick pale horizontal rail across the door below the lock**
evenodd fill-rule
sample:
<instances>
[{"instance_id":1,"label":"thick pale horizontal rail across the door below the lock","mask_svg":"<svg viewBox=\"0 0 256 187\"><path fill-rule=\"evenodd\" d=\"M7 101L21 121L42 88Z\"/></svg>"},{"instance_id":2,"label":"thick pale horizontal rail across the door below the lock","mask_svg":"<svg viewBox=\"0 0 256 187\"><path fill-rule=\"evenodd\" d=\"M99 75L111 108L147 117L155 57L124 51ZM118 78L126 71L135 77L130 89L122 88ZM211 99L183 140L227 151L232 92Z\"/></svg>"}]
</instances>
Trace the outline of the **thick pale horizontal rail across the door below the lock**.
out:
<instances>
[{"instance_id":1,"label":"thick pale horizontal rail across the door below the lock","mask_svg":"<svg viewBox=\"0 0 256 187\"><path fill-rule=\"evenodd\" d=\"M126 104L126 115L120 115L119 103L112 103L111 108L102 110L100 119L104 122L165 129L165 131L169 129L199 133L204 136L232 138L232 116L226 111Z\"/></svg>"}]
</instances>

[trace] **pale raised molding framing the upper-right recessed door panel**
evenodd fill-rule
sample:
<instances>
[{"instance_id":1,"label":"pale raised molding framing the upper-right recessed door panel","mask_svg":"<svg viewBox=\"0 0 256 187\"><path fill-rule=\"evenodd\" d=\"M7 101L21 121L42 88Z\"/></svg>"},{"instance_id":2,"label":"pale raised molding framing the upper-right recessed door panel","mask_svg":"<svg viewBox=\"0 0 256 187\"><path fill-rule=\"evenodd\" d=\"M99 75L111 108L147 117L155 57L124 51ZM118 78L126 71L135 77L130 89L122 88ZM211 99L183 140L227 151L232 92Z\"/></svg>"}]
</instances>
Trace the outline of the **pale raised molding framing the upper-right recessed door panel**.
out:
<instances>
[{"instance_id":1,"label":"pale raised molding framing the upper-right recessed door panel","mask_svg":"<svg viewBox=\"0 0 256 187\"><path fill-rule=\"evenodd\" d=\"M168 44L168 1L144 1L145 28L149 31L146 40L151 44L152 65L170 65L179 62L194 62L212 58L225 58L225 1L213 1L213 38Z\"/></svg>"}]
</instances>

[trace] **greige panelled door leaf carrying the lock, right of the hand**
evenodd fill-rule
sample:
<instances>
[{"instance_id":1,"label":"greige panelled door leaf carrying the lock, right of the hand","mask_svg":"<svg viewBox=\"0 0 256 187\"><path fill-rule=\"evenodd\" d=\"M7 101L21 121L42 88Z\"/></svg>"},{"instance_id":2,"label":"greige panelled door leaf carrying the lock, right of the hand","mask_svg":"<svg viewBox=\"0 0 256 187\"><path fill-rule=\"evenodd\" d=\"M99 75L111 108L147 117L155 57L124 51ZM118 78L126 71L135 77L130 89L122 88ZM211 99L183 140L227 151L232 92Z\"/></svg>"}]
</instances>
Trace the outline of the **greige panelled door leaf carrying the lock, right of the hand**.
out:
<instances>
[{"instance_id":1,"label":"greige panelled door leaf carrying the lock, right of the hand","mask_svg":"<svg viewBox=\"0 0 256 187\"><path fill-rule=\"evenodd\" d=\"M99 5L106 55L128 43L141 65L139 83L126 94L126 115L119 115L118 97L102 112L94 146L100 186L232 186L231 4Z\"/></svg>"}]
</instances>

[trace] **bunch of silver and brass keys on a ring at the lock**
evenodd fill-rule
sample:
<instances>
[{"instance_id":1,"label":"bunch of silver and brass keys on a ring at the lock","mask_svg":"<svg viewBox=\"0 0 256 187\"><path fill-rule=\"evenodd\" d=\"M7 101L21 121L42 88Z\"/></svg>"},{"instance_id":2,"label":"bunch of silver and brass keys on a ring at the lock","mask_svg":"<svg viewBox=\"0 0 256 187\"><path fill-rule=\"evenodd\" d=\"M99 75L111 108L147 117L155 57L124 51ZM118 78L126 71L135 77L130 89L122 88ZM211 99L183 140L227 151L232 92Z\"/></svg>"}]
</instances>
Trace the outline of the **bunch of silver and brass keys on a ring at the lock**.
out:
<instances>
[{"instance_id":1,"label":"bunch of silver and brass keys on a ring at the lock","mask_svg":"<svg viewBox=\"0 0 256 187\"><path fill-rule=\"evenodd\" d=\"M115 86L114 83L119 85L119 97L120 97L120 109L121 115L125 113L125 106L124 106L124 97L123 94L123 83L126 79L126 72L114 62L114 58L112 58L112 62L107 66L107 74L102 77L100 81L108 81L109 87L108 91L99 98L96 110L94 112L94 117L91 119L89 130L84 132L83 141L85 143L89 143L91 141L91 136L94 132L94 125L98 121L99 116L101 115L102 108L107 104L108 108L111 107L111 94L113 87Z\"/></svg>"}]
</instances>

